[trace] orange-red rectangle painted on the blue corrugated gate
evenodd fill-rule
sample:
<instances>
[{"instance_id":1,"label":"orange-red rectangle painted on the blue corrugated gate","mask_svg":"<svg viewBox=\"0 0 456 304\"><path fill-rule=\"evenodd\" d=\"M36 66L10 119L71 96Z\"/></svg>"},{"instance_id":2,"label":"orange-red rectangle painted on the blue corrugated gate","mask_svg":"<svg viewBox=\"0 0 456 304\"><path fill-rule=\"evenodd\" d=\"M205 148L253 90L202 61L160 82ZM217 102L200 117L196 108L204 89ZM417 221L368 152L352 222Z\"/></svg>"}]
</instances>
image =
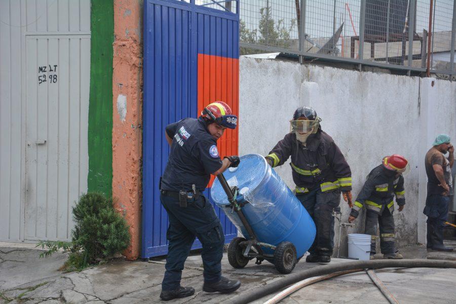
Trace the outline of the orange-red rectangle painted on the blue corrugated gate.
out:
<instances>
[{"instance_id":1,"label":"orange-red rectangle painted on the blue corrugated gate","mask_svg":"<svg viewBox=\"0 0 456 304\"><path fill-rule=\"evenodd\" d=\"M211 102L223 101L239 116L239 59L198 54L198 115ZM217 141L220 157L238 155L238 128ZM209 187L212 186L211 177Z\"/></svg>"}]
</instances>

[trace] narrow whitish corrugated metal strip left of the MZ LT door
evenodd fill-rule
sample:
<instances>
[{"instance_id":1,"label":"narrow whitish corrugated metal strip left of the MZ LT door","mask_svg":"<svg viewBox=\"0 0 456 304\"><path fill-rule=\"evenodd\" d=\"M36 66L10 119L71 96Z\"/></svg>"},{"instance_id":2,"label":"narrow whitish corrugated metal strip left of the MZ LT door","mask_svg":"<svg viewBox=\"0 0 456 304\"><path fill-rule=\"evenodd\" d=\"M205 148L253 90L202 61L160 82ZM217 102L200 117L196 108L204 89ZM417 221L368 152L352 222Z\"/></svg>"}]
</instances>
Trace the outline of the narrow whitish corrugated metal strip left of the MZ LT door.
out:
<instances>
[{"instance_id":1,"label":"narrow whitish corrugated metal strip left of the MZ LT door","mask_svg":"<svg viewBox=\"0 0 456 304\"><path fill-rule=\"evenodd\" d=\"M0 1L0 240L20 240L21 168L21 10Z\"/></svg>"}]
</instances>

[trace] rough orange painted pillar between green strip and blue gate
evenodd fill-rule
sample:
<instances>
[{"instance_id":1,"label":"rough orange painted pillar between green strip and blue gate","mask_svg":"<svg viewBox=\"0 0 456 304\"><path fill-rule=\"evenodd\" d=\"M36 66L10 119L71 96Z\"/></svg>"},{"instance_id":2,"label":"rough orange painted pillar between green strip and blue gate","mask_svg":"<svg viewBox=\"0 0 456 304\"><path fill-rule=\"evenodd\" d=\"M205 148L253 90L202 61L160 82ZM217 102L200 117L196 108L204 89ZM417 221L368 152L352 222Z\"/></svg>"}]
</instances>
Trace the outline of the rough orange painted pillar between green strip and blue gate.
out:
<instances>
[{"instance_id":1,"label":"rough orange painted pillar between green strip and blue gate","mask_svg":"<svg viewBox=\"0 0 456 304\"><path fill-rule=\"evenodd\" d=\"M114 0L112 74L112 197L130 225L124 255L139 257L141 246L142 6Z\"/></svg>"}]
</instances>

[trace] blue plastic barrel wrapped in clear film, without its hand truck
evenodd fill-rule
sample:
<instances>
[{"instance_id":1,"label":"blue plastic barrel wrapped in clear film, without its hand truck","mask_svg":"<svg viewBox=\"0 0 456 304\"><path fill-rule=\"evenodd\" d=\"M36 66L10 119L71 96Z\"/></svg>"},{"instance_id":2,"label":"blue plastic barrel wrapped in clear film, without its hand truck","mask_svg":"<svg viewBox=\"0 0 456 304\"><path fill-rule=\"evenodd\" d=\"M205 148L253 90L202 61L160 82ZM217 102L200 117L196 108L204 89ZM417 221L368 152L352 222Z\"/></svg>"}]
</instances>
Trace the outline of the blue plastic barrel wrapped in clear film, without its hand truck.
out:
<instances>
[{"instance_id":1,"label":"blue plastic barrel wrapped in clear film, without its hand truck","mask_svg":"<svg viewBox=\"0 0 456 304\"><path fill-rule=\"evenodd\" d=\"M248 201L242 211L258 241L274 246L288 241L296 247L298 257L306 253L315 239L315 223L282 178L261 155L249 154L241 157L239 166L229 168L223 175L228 184L237 186ZM218 179L215 179L212 185L211 197L244 237L249 238ZM265 253L268 251L270 250L265 250Z\"/></svg>"}]
</instances>

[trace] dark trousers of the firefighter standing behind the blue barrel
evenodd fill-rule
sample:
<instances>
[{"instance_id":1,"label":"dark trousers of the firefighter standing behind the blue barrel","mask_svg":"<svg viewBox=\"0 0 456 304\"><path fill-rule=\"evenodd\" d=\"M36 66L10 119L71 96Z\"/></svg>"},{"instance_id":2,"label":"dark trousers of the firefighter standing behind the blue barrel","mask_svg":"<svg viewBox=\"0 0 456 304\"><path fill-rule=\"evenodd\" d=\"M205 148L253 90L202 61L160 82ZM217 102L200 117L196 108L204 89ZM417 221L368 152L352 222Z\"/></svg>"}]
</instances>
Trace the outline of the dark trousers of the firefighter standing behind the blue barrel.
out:
<instances>
[{"instance_id":1,"label":"dark trousers of the firefighter standing behind the blue barrel","mask_svg":"<svg viewBox=\"0 0 456 304\"><path fill-rule=\"evenodd\" d=\"M340 191L324 193L317 188L307 194L296 194L296 197L309 212L317 227L317 235L309 252L315 255L331 256L334 248L332 211L339 205Z\"/></svg>"}]
</instances>

